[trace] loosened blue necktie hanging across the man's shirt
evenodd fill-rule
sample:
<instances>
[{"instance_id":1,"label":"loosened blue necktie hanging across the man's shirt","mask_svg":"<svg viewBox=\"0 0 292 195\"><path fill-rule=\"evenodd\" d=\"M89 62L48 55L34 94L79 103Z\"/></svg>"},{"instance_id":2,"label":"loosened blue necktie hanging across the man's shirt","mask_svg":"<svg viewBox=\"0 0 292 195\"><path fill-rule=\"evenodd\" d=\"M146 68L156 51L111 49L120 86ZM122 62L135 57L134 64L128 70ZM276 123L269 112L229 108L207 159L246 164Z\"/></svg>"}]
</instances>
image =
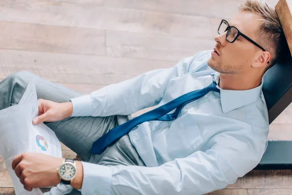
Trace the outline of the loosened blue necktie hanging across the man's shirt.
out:
<instances>
[{"instance_id":1,"label":"loosened blue necktie hanging across the man's shirt","mask_svg":"<svg viewBox=\"0 0 292 195\"><path fill-rule=\"evenodd\" d=\"M126 135L129 131L131 131L137 125L149 121L149 120L162 120L169 121L174 120L179 112L182 110L183 106L187 103L190 103L196 99L202 98L208 92L215 91L220 93L220 90L216 87L216 82L212 82L208 87L203 89L195 90L184 94L178 98L175 98L166 104L155 108L149 112L146 112L138 117L134 117L131 120L114 127L108 133L98 138L93 144L91 148L91 153L93 154L101 154L103 150L108 147L111 143L116 141L117 139ZM167 114L172 110L175 110L172 114Z\"/></svg>"}]
</instances>

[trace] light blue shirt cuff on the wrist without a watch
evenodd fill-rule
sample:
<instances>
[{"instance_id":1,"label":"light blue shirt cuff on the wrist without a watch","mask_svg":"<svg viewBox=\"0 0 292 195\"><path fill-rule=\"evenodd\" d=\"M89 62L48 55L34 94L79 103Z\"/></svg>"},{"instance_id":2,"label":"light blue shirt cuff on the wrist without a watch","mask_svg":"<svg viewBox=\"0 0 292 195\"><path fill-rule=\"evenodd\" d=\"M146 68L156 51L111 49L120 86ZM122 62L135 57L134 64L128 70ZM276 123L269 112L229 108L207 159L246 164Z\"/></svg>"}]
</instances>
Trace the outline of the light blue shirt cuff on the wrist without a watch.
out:
<instances>
[{"instance_id":1,"label":"light blue shirt cuff on the wrist without a watch","mask_svg":"<svg viewBox=\"0 0 292 195\"><path fill-rule=\"evenodd\" d=\"M91 116L91 95L85 95L78 98L72 98L73 113L71 117L89 117Z\"/></svg>"}]
</instances>

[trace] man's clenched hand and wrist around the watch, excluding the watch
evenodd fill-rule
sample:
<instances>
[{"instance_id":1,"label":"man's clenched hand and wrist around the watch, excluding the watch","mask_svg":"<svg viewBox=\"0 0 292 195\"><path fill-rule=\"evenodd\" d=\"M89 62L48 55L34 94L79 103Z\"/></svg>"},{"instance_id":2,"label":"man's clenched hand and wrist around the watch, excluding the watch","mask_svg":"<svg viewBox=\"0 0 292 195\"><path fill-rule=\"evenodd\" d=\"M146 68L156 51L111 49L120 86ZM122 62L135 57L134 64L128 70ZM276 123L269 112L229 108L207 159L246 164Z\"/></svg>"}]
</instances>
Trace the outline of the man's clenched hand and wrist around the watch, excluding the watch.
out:
<instances>
[{"instance_id":1,"label":"man's clenched hand and wrist around the watch, excluding the watch","mask_svg":"<svg viewBox=\"0 0 292 195\"><path fill-rule=\"evenodd\" d=\"M32 191L33 188L43 188L60 183L57 168L63 163L64 158L55 158L40 153L22 153L15 156L12 168L23 184L24 189ZM75 189L82 187L83 167L80 161L76 162L76 176L71 182Z\"/></svg>"}]
</instances>

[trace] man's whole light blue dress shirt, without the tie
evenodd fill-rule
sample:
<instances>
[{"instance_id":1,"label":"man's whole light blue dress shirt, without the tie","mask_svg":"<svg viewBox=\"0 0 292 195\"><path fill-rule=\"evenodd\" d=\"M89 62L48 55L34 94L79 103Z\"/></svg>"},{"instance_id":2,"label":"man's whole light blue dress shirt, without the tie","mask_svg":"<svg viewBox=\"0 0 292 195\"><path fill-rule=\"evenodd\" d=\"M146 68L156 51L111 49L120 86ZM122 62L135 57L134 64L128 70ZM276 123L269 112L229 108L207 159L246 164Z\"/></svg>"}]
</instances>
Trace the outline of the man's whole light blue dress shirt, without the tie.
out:
<instances>
[{"instance_id":1,"label":"man's whole light blue dress shirt, without the tie","mask_svg":"<svg viewBox=\"0 0 292 195\"><path fill-rule=\"evenodd\" d=\"M129 115L204 88L219 73L200 52L79 98L73 117ZM209 92L186 104L172 121L148 121L129 132L146 164L102 166L82 162L83 195L202 195L236 182L267 148L269 120L262 84L250 90ZM171 111L173 113L175 110Z\"/></svg>"}]
</instances>

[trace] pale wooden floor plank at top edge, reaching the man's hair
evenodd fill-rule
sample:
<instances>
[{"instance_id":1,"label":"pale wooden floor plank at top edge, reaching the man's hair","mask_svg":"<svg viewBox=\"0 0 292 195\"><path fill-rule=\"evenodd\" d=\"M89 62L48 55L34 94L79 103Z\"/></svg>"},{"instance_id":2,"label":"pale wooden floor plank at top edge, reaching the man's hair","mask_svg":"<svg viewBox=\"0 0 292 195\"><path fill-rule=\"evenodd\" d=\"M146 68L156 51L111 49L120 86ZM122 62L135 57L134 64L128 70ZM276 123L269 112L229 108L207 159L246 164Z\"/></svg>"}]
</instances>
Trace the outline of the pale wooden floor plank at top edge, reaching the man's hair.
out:
<instances>
[{"instance_id":1,"label":"pale wooden floor plank at top edge, reaching the man's hair","mask_svg":"<svg viewBox=\"0 0 292 195\"><path fill-rule=\"evenodd\" d=\"M238 0L105 0L108 7L163 11L205 17L230 18Z\"/></svg>"}]
</instances>

